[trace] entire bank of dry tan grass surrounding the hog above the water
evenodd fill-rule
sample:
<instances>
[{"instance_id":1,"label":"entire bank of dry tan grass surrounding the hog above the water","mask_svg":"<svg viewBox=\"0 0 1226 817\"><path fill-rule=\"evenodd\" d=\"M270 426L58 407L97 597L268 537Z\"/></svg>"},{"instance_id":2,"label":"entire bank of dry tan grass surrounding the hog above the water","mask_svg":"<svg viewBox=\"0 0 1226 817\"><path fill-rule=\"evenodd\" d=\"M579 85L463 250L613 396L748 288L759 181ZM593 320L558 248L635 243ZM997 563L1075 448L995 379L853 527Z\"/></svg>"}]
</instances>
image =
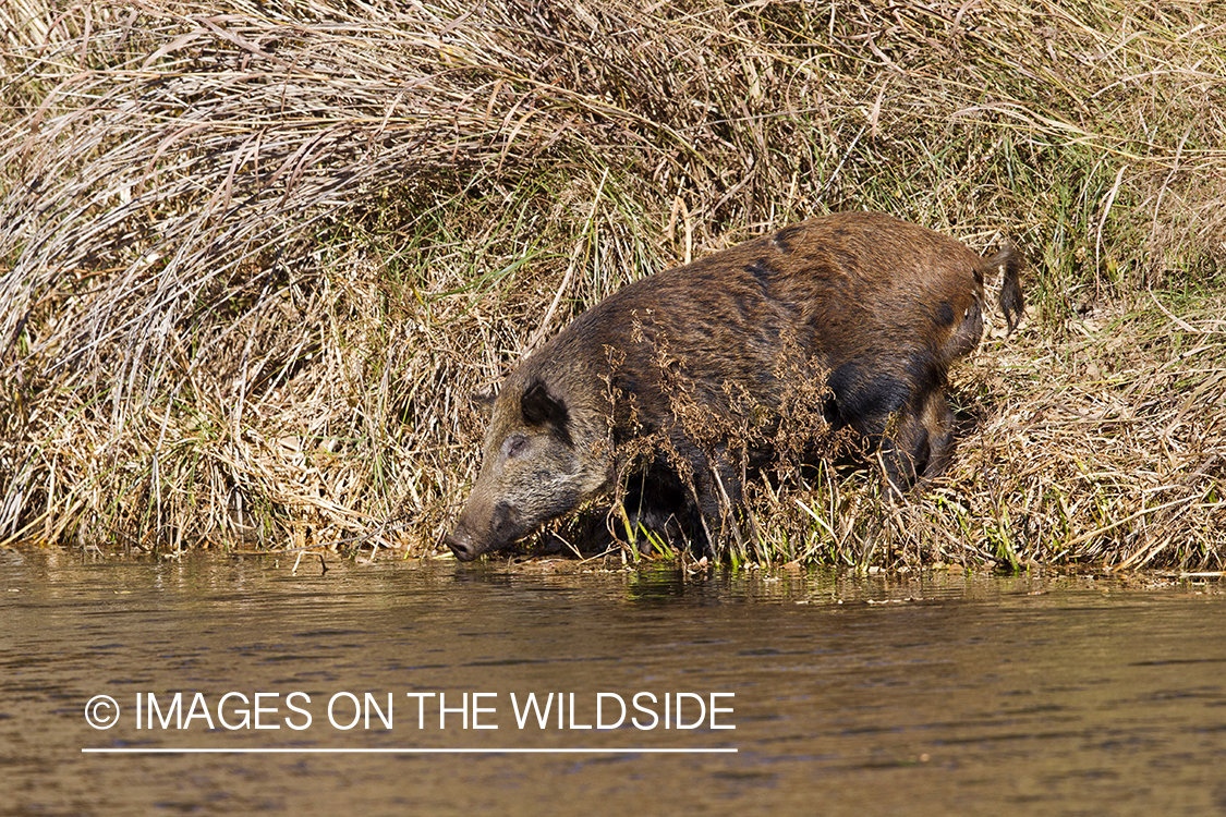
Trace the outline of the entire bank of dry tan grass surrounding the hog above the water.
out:
<instances>
[{"instance_id":1,"label":"entire bank of dry tan grass surrounding the hog above the water","mask_svg":"<svg viewBox=\"0 0 1226 817\"><path fill-rule=\"evenodd\" d=\"M625 280L870 208L1011 236L1031 318L955 374L937 490L767 496L738 557L1221 567L1221 4L10 0L0 29L2 541L430 551L473 387Z\"/></svg>"}]
</instances>

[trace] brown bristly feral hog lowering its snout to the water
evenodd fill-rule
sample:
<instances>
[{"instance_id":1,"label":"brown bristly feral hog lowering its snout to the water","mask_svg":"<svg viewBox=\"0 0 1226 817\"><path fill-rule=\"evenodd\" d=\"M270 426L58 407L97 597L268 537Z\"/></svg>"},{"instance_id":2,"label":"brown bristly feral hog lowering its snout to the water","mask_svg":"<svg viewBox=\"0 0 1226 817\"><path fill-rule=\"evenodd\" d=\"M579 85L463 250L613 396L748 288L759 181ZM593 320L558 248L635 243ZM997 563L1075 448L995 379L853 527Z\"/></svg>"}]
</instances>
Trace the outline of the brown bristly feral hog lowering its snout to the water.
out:
<instances>
[{"instance_id":1,"label":"brown bristly feral hog lowering its snout to the water","mask_svg":"<svg viewBox=\"0 0 1226 817\"><path fill-rule=\"evenodd\" d=\"M716 548L747 474L798 424L813 426L802 447L821 427L867 439L895 492L928 480L950 459L945 374L980 342L984 274L1004 267L1011 331L1021 266L1011 247L981 258L840 213L636 280L487 398L481 473L446 544L476 559L622 485L636 522Z\"/></svg>"}]
</instances>

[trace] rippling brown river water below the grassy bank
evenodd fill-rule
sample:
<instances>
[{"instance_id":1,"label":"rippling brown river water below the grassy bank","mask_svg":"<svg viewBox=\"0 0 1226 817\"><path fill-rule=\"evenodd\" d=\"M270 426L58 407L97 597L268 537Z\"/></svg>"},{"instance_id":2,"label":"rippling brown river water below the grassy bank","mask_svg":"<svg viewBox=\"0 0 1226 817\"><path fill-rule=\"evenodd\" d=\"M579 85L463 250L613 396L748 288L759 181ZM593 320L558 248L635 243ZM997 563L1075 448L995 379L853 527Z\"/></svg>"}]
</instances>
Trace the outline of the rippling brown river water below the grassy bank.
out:
<instances>
[{"instance_id":1,"label":"rippling brown river water below the grassy bank","mask_svg":"<svg viewBox=\"0 0 1226 817\"><path fill-rule=\"evenodd\" d=\"M1226 813L1214 581L292 568L0 551L0 815Z\"/></svg>"}]
</instances>

